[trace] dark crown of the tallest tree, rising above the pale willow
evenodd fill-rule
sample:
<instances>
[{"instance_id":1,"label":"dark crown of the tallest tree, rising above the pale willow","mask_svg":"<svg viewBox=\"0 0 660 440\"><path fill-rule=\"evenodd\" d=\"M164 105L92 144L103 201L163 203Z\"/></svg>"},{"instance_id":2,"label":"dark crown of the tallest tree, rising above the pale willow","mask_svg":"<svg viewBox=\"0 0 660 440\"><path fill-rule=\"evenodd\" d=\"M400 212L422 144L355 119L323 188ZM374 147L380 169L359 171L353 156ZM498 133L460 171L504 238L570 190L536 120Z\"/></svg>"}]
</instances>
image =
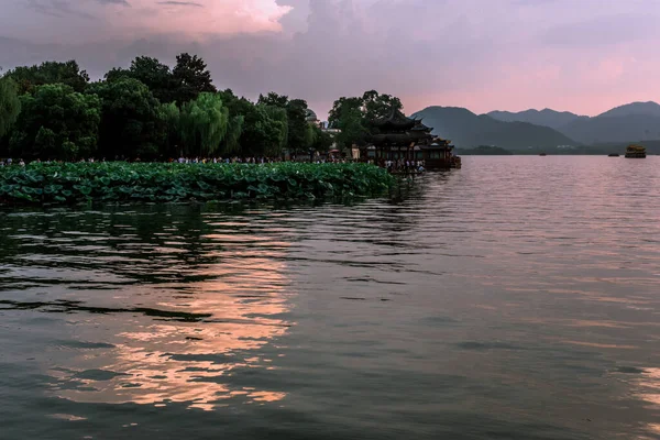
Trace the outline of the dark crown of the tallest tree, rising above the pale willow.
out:
<instances>
[{"instance_id":1,"label":"dark crown of the tallest tree, rising above the pale willow","mask_svg":"<svg viewBox=\"0 0 660 440\"><path fill-rule=\"evenodd\" d=\"M177 87L174 99L179 106L196 99L199 94L218 91L205 61L197 55L178 55L172 74Z\"/></svg>"}]
</instances>

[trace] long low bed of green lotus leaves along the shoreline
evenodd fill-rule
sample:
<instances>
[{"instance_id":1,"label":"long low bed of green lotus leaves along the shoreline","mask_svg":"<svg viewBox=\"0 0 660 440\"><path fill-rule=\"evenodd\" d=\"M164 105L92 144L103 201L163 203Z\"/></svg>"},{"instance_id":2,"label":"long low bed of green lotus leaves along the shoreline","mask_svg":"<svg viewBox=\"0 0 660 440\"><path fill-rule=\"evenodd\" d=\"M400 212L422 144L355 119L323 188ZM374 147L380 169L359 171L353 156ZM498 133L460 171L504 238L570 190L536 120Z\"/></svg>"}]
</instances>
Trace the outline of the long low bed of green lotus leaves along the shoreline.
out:
<instances>
[{"instance_id":1,"label":"long low bed of green lotus leaves along the shoreline","mask_svg":"<svg viewBox=\"0 0 660 440\"><path fill-rule=\"evenodd\" d=\"M32 163L0 168L0 202L350 198L393 184L367 164Z\"/></svg>"}]
</instances>

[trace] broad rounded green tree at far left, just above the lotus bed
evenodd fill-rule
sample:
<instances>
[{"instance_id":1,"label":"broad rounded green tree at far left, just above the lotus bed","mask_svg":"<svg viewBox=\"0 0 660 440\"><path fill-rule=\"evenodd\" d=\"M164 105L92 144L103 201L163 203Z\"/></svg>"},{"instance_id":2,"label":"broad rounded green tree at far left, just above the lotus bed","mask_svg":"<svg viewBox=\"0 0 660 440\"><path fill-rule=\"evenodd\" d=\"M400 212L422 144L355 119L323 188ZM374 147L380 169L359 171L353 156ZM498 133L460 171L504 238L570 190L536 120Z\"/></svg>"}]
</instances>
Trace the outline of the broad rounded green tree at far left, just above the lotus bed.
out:
<instances>
[{"instance_id":1,"label":"broad rounded green tree at far left, just above the lotus bed","mask_svg":"<svg viewBox=\"0 0 660 440\"><path fill-rule=\"evenodd\" d=\"M70 86L37 86L21 98L10 151L25 158L75 160L97 151L101 102Z\"/></svg>"}]
</instances>

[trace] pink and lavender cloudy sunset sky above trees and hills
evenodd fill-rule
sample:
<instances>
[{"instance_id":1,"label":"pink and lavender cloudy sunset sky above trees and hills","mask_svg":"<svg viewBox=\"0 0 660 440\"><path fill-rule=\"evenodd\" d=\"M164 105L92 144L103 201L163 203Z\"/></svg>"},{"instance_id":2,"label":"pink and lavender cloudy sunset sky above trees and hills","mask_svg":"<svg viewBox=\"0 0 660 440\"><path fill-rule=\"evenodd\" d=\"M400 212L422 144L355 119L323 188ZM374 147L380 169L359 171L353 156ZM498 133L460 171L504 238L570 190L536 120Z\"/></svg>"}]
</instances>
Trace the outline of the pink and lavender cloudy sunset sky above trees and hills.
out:
<instances>
[{"instance_id":1,"label":"pink and lavender cloudy sunset sky above trees and hills","mask_svg":"<svg viewBox=\"0 0 660 440\"><path fill-rule=\"evenodd\" d=\"M375 89L406 113L660 101L660 0L0 0L0 66L139 55L209 65L220 89L306 99Z\"/></svg>"}]
</instances>

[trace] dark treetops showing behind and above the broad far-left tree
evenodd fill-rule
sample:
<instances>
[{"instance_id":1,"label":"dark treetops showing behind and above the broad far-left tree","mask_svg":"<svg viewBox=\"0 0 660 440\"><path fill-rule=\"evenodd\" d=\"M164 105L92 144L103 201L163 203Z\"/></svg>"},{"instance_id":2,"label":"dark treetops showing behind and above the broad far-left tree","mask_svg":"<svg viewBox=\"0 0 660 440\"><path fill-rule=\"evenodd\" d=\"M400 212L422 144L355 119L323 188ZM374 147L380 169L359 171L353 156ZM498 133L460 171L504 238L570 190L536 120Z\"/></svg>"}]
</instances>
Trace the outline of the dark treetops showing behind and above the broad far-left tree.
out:
<instances>
[{"instance_id":1,"label":"dark treetops showing behind and above the broad far-left tree","mask_svg":"<svg viewBox=\"0 0 660 440\"><path fill-rule=\"evenodd\" d=\"M80 70L78 63L46 62L40 66L16 67L7 73L19 85L19 95L32 94L38 86L65 84L75 91L82 92L89 82L87 72Z\"/></svg>"}]
</instances>

